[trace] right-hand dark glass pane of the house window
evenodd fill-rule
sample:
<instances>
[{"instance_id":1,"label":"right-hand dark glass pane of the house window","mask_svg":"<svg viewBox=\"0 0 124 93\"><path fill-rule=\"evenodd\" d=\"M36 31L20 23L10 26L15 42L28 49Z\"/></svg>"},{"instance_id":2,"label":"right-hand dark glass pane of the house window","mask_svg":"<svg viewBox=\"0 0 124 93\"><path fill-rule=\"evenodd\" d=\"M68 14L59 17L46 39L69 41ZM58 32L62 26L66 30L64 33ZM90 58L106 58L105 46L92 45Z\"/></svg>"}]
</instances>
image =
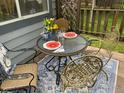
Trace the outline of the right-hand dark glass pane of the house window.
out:
<instances>
[{"instance_id":1,"label":"right-hand dark glass pane of the house window","mask_svg":"<svg viewBox=\"0 0 124 93\"><path fill-rule=\"evenodd\" d=\"M47 10L46 1L47 0L19 0L21 14L24 16Z\"/></svg>"}]
</instances>

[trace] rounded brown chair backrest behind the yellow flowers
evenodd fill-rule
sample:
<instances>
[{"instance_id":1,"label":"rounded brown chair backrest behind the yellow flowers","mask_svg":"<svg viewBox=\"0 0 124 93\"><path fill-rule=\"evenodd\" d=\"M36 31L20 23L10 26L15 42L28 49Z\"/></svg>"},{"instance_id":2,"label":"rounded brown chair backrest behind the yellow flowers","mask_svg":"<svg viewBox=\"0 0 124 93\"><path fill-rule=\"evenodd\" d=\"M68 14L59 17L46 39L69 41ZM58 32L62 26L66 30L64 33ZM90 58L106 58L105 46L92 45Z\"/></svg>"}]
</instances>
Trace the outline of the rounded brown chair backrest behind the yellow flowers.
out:
<instances>
[{"instance_id":1,"label":"rounded brown chair backrest behind the yellow flowers","mask_svg":"<svg viewBox=\"0 0 124 93\"><path fill-rule=\"evenodd\" d=\"M69 30L68 20L66 20L64 18L59 18L55 21L55 23L58 25L60 30L63 30L64 32Z\"/></svg>"}]
</instances>

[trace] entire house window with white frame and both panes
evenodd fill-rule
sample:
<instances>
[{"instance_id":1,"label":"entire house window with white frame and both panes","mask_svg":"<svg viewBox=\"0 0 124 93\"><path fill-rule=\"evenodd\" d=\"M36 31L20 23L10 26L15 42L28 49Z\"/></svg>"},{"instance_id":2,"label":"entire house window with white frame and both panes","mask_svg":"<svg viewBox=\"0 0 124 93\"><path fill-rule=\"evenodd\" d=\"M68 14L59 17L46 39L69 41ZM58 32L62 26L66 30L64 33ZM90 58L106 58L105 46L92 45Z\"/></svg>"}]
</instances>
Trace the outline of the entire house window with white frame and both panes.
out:
<instances>
[{"instance_id":1,"label":"entire house window with white frame and both panes","mask_svg":"<svg viewBox=\"0 0 124 93\"><path fill-rule=\"evenodd\" d=\"M48 12L48 0L0 0L0 25Z\"/></svg>"}]
</instances>

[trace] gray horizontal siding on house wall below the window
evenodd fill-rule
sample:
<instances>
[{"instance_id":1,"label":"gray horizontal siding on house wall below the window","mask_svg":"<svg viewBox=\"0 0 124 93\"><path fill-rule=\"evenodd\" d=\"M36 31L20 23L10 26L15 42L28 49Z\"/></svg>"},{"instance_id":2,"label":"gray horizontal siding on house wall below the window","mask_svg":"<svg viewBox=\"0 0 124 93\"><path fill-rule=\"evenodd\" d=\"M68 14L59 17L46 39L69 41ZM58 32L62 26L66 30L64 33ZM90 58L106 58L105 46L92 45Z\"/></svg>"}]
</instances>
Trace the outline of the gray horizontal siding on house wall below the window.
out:
<instances>
[{"instance_id":1,"label":"gray horizontal siding on house wall below the window","mask_svg":"<svg viewBox=\"0 0 124 93\"><path fill-rule=\"evenodd\" d=\"M53 8L53 16L55 16L55 0L52 1ZM4 43L6 47L9 49L21 49L33 47L36 45L37 39L40 37L40 33L44 29L42 28L42 23L35 23L33 25L29 25L26 27L22 27L21 29L17 29L10 33L6 33L0 36L0 42ZM29 58L33 54L30 52L18 52L18 53L10 53L8 52L9 57L12 60L12 64L17 64L24 59Z\"/></svg>"}]
</instances>

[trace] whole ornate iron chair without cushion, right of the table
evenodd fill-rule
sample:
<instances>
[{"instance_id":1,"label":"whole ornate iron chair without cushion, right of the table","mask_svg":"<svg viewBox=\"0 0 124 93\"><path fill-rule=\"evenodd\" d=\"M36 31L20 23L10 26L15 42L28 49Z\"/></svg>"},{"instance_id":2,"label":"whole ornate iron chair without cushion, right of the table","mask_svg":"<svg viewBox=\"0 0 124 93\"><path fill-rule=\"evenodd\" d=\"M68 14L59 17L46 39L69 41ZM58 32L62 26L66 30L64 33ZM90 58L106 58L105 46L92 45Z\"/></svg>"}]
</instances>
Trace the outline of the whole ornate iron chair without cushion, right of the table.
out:
<instances>
[{"instance_id":1,"label":"whole ornate iron chair without cushion, right of the table","mask_svg":"<svg viewBox=\"0 0 124 93\"><path fill-rule=\"evenodd\" d=\"M67 87L93 87L97 81L97 75L101 71L105 74L106 80L108 80L108 75L103 67L112 58L112 50L116 47L118 40L118 32L106 33L101 40L98 40L100 41L100 47L96 51L84 52L82 57L72 60L62 71L62 90ZM105 49L106 53L102 52L102 48ZM105 62L103 62L103 59L105 59Z\"/></svg>"}]
</instances>

